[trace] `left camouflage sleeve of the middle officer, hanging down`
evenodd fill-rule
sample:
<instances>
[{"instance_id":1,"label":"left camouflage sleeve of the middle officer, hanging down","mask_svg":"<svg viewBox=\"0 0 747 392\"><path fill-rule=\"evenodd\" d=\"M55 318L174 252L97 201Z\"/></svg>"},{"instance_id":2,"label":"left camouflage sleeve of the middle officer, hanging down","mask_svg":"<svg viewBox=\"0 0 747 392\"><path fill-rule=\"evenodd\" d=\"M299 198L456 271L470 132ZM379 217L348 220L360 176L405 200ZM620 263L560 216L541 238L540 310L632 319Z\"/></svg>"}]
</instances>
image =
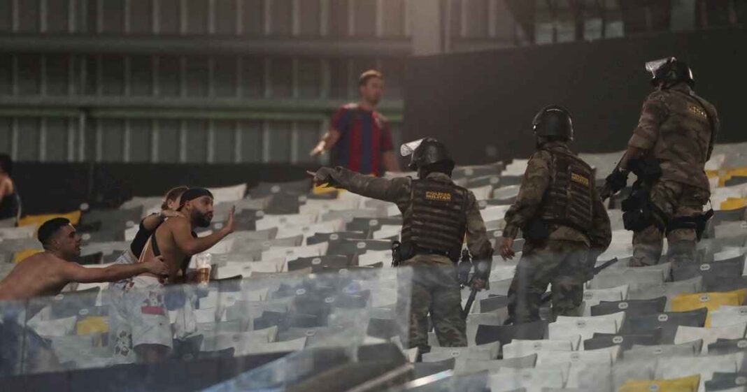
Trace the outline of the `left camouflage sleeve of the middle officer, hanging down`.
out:
<instances>
[{"instance_id":1,"label":"left camouflage sleeve of the middle officer, hanging down","mask_svg":"<svg viewBox=\"0 0 747 392\"><path fill-rule=\"evenodd\" d=\"M506 228L503 229L503 237L515 238L518 230L523 228L533 219L539 205L542 204L542 196L550 184L550 158L547 152L537 152L532 155L527 164L527 171L521 180L516 202L506 211Z\"/></svg>"}]
</instances>

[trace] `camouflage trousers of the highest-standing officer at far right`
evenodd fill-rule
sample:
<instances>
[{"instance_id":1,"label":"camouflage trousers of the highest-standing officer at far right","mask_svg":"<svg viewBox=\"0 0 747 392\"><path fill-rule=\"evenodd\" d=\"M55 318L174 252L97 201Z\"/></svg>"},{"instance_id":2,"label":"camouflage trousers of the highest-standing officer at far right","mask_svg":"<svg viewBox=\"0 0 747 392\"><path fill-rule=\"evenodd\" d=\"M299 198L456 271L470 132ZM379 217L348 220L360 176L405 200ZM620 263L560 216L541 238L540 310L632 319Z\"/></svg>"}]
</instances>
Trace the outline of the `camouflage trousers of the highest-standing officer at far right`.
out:
<instances>
[{"instance_id":1,"label":"camouflage trousers of the highest-standing officer at far right","mask_svg":"<svg viewBox=\"0 0 747 392\"><path fill-rule=\"evenodd\" d=\"M667 220L701 214L710 193L675 181L658 181L648 193L651 203L659 208ZM660 222L663 225L663 223ZM633 233L633 258L630 267L644 267L659 262L664 234L657 225L650 225ZM692 228L681 228L666 234L669 243L669 261L687 263L695 261L697 236Z\"/></svg>"}]
</instances>

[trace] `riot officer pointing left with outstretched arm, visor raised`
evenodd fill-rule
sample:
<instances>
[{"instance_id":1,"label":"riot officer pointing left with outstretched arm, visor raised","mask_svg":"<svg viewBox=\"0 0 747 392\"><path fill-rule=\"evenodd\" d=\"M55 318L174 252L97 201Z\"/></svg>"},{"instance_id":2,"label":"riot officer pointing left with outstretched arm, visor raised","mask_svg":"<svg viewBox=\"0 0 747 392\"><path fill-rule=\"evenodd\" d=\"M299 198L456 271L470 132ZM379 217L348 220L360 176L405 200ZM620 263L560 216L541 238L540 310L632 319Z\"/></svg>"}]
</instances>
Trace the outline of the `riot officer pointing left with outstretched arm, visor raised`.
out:
<instances>
[{"instance_id":1,"label":"riot officer pointing left with outstretched arm, visor raised","mask_svg":"<svg viewBox=\"0 0 747 392\"><path fill-rule=\"evenodd\" d=\"M451 181L454 162L446 146L429 137L403 145L402 154L412 155L409 168L417 170L418 178L375 178L322 167L314 174L314 183L397 204L403 215L399 265L413 270L409 346L418 347L421 354L430 350L429 311L441 346L467 346L456 264L466 234L469 251L481 261L471 286L485 287L493 253L485 223L474 194Z\"/></svg>"}]
</instances>

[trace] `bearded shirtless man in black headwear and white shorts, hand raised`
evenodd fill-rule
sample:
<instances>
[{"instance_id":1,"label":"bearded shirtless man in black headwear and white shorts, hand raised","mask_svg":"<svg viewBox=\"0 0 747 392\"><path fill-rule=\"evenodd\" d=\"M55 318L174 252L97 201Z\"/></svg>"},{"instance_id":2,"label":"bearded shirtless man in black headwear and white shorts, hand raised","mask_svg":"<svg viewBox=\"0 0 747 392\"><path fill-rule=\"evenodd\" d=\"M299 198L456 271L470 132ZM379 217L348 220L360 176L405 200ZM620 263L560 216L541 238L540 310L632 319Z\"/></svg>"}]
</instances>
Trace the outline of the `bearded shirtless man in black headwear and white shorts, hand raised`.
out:
<instances>
[{"instance_id":1,"label":"bearded shirtless man in black headwear and white shorts, hand raised","mask_svg":"<svg viewBox=\"0 0 747 392\"><path fill-rule=\"evenodd\" d=\"M168 266L168 283L181 283L192 255L205 252L234 229L234 211L219 231L197 237L193 229L208 227L213 219L213 195L203 188L182 193L178 210L184 217L172 217L158 226L146 243L140 261L163 256ZM182 271L182 276L179 276ZM164 303L167 282L152 273L142 273L118 282L112 289L110 332L115 363L162 361L173 346L168 310Z\"/></svg>"}]
</instances>

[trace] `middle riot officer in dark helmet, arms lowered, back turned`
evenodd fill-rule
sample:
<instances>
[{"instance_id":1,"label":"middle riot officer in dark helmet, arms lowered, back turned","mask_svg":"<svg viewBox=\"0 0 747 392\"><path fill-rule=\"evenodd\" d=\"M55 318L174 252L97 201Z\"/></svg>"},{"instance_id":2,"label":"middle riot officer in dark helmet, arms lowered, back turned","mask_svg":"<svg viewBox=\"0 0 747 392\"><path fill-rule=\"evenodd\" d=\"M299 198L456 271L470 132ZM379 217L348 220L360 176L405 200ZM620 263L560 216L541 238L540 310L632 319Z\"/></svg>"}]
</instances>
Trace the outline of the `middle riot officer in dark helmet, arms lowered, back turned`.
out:
<instances>
[{"instance_id":1,"label":"middle riot officer in dark helmet, arms lowered, back turned","mask_svg":"<svg viewBox=\"0 0 747 392\"><path fill-rule=\"evenodd\" d=\"M568 148L571 114L560 106L539 111L533 121L536 149L516 202L506 212L499 252L513 258L513 240L524 249L509 287L514 323L540 320L542 294L552 285L553 315L578 315L583 282L596 257L610 246L610 218L595 189L592 168ZM592 249L592 252L589 252Z\"/></svg>"}]
</instances>

